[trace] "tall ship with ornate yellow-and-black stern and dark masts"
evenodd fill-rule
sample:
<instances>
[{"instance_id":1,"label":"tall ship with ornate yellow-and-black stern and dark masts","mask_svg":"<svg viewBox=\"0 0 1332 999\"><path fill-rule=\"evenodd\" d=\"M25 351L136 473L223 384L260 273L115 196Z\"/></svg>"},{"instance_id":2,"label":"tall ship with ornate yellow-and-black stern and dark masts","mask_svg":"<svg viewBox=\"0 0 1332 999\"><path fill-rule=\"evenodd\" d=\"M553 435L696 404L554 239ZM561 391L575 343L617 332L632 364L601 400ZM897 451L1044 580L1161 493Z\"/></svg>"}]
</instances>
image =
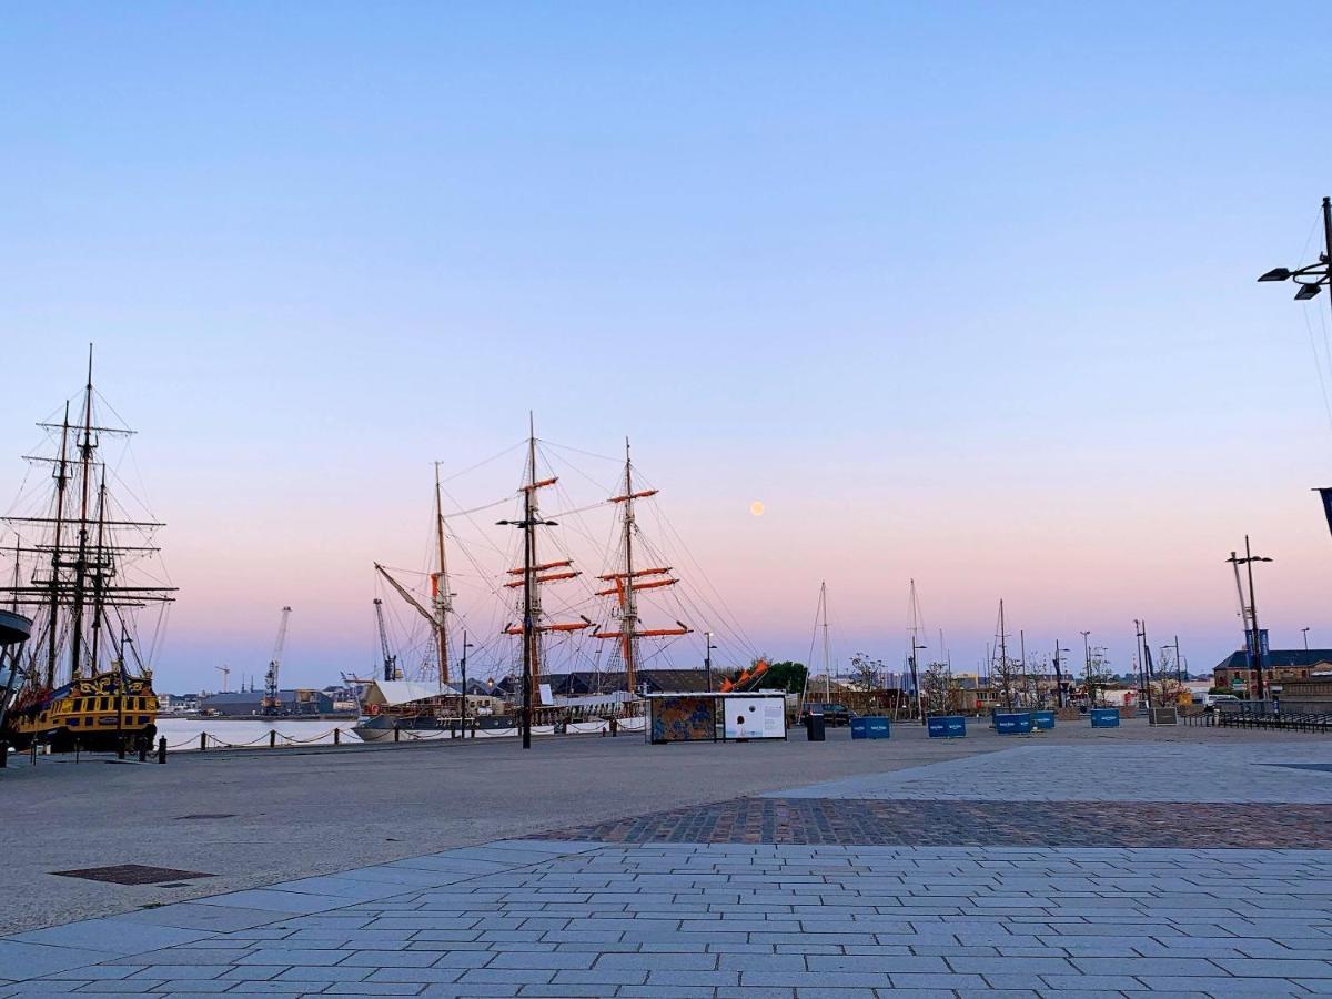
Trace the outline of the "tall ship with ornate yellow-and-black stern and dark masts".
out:
<instances>
[{"instance_id":1,"label":"tall ship with ornate yellow-and-black stern and dark masts","mask_svg":"<svg viewBox=\"0 0 1332 999\"><path fill-rule=\"evenodd\" d=\"M0 606L32 621L0 741L132 747L157 733L152 662L176 587L155 543L164 525L121 478L133 430L93 388L91 348L83 392L39 428L43 453L24 456L16 510L0 518Z\"/></svg>"}]
</instances>

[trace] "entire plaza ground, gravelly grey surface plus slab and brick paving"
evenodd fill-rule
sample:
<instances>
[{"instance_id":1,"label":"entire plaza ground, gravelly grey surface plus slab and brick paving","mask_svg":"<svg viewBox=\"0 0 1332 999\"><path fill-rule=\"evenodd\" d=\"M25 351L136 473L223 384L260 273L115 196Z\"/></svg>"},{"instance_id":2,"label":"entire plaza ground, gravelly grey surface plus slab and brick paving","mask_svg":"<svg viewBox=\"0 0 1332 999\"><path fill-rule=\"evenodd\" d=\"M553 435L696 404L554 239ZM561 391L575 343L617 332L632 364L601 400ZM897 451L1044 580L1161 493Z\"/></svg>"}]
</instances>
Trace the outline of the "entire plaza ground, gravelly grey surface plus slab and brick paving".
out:
<instances>
[{"instance_id":1,"label":"entire plaza ground, gravelly grey surface plus slab and brick paving","mask_svg":"<svg viewBox=\"0 0 1332 999\"><path fill-rule=\"evenodd\" d=\"M1329 771L1140 722L41 761L0 995L1332 992ZM52 874L121 863L209 876Z\"/></svg>"}]
</instances>

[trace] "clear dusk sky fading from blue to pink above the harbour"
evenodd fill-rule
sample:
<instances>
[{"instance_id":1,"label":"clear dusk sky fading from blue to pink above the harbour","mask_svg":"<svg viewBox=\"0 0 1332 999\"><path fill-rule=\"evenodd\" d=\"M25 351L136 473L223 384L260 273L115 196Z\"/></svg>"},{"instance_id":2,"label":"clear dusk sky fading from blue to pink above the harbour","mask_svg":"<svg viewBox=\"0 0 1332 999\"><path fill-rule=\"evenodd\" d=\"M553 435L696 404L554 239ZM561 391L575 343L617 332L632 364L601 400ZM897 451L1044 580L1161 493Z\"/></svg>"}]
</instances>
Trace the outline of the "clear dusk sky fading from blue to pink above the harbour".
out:
<instances>
[{"instance_id":1,"label":"clear dusk sky fading from blue to pink above the harbour","mask_svg":"<svg viewBox=\"0 0 1332 999\"><path fill-rule=\"evenodd\" d=\"M284 679L373 669L372 562L529 410L633 440L739 622L675 665L807 658L826 581L834 657L895 666L915 579L955 669L1000 598L1028 649L1127 670L1143 618L1209 669L1245 534L1272 645L1332 647L1327 296L1253 280L1319 249L1323 4L3 17L0 497L96 342L181 587L161 689L261 671L284 605Z\"/></svg>"}]
</instances>

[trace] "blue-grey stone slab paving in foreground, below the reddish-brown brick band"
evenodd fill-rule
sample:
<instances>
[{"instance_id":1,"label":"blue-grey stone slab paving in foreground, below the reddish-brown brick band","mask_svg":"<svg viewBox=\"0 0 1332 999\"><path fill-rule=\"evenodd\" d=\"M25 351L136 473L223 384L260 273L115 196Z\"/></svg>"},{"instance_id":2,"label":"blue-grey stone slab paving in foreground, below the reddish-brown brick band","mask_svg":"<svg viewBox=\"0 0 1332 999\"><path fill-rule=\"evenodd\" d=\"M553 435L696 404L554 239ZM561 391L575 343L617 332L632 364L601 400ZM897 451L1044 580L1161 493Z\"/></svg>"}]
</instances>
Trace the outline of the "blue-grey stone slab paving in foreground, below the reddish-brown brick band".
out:
<instances>
[{"instance_id":1,"label":"blue-grey stone slab paving in foreground, below the reddish-brown brick band","mask_svg":"<svg viewBox=\"0 0 1332 999\"><path fill-rule=\"evenodd\" d=\"M534 840L513 848L521 863L442 888L313 912L274 904L258 927L137 954L0 940L15 982L0 996L1332 991L1329 851L561 848ZM583 884L577 900L569 883ZM1292 891L1304 892L1297 915L1267 904Z\"/></svg>"}]
</instances>

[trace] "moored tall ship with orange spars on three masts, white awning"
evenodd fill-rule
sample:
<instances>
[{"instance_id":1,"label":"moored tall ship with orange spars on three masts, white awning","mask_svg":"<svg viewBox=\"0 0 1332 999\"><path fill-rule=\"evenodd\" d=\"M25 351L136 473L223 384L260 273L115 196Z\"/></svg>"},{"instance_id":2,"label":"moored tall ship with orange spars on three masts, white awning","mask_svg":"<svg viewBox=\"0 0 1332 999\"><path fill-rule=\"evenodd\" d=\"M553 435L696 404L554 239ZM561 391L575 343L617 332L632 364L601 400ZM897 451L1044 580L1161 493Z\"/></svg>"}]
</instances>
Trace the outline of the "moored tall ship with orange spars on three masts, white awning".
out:
<instances>
[{"instance_id":1,"label":"moored tall ship with orange spars on three masts, white awning","mask_svg":"<svg viewBox=\"0 0 1332 999\"><path fill-rule=\"evenodd\" d=\"M610 550L606 570L587 581L578 569L573 554L555 542L539 542L535 527L557 526L542 513L541 497L559 481L554 472L546 472L538 465L537 437L529 426L523 442L526 461L522 481L517 489L518 515L500 521L497 526L519 527L521 555L511 557L507 565L498 569L498 578L481 570L473 554L468 562L489 575L484 586L505 607L507 622L496 631L486 631L478 638L480 646L468 641L465 621L454 609L454 593L446 563L445 523L438 469L436 472L434 523L432 525L432 565L425 573L429 595L420 594L400 575L376 563L376 574L406 605L413 619L424 619L429 639L421 647L422 669L416 682L409 681L398 667L398 657L393 654L384 629L381 601L376 601L380 643L384 655L382 679L369 685L362 697L361 719L356 734L364 741L398 738L402 733L418 738L449 733L461 734L462 729L474 730L514 730L521 717L518 702L526 699L530 705L530 723L537 727L578 726L578 730L595 730L611 723L635 727L642 722L638 690L638 669L642 661L639 643L645 638L677 638L690 634L689 626L679 621L669 625L645 626L641 617L641 601L645 593L661 593L677 583L674 570L663 561L654 559L647 551L646 561L641 553L643 538L637 523L637 505L655 496L655 489L643 489L635 482L634 465L630 461L629 442L618 489L614 496L594 503L594 507L614 511ZM510 500L511 501L511 500ZM505 501L489 503L490 509ZM593 509L593 507L587 507ZM461 511L468 515L472 511ZM582 510L571 511L574 515ZM511 533L511 531L510 531ZM493 535L492 535L493 537ZM538 550L538 545L541 550ZM545 545L549 545L546 547ZM500 551L494 541L486 546ZM591 582L590 586L586 583ZM562 587L582 589L567 595ZM551 593L547 593L550 590ZM562 590L555 595L555 590ZM554 607L551 607L554 605ZM460 634L461 633L461 634ZM473 638L477 631L473 630ZM507 639L507 655L502 642ZM603 646L609 655L587 651L589 645L579 639L590 639L590 646ZM577 643L574 653L567 643ZM590 687L579 691L582 695L554 695L550 658L551 643L558 643L569 655L583 655L593 665L595 677L605 675L605 682L594 681ZM498 647L497 647L498 646ZM501 678L493 691L488 691L466 675L466 655L469 649L486 653L490 665L509 658L513 663L507 678ZM521 666L519 666L521 662ZM486 714L469 710L464 690L474 698L490 699L485 694L502 694L507 710ZM526 698L523 698L526 691Z\"/></svg>"}]
</instances>

